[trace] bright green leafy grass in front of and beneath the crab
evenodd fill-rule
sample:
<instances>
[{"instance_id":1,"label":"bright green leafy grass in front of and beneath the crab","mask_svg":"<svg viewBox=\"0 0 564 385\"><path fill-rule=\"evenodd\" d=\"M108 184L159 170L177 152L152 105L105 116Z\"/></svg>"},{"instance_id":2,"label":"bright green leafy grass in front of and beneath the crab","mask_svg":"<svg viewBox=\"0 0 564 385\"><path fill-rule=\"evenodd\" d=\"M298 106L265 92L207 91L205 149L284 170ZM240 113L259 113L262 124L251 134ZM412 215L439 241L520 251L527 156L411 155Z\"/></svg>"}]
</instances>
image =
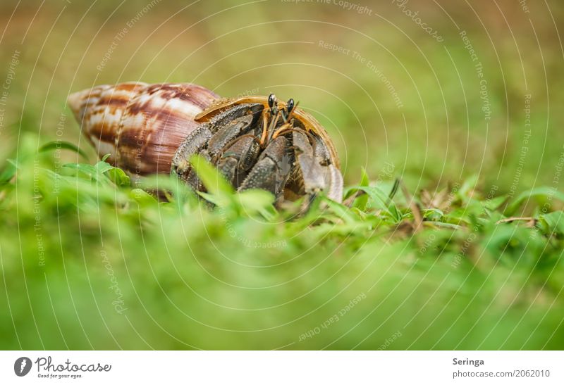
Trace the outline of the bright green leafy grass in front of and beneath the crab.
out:
<instances>
[{"instance_id":1,"label":"bright green leafy grass in front of and beneath the crab","mask_svg":"<svg viewBox=\"0 0 564 385\"><path fill-rule=\"evenodd\" d=\"M214 208L167 175L142 182L169 191L157 202L54 147L25 137L1 175L3 348L563 346L563 212L541 211L560 193L532 191L534 220L499 222L528 198L474 178L416 208L364 175L351 208L320 197L293 217L298 203L233 194L197 159Z\"/></svg>"}]
</instances>

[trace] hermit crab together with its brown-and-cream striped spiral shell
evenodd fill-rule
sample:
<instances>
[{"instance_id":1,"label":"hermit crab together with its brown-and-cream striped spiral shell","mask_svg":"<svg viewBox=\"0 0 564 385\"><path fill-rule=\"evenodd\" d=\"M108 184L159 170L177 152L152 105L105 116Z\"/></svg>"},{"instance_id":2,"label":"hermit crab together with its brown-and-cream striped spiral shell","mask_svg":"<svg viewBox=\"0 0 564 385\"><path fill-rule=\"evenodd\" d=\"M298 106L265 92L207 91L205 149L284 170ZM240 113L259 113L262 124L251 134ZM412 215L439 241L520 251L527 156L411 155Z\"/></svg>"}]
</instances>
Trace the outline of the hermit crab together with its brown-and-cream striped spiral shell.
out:
<instances>
[{"instance_id":1,"label":"hermit crab together with its brown-and-cream striped spiral shell","mask_svg":"<svg viewBox=\"0 0 564 385\"><path fill-rule=\"evenodd\" d=\"M194 154L237 189L264 189L277 203L324 191L341 202L343 177L333 141L293 99L220 98L196 84L126 82L68 96L99 156L130 175L173 172L195 191Z\"/></svg>"}]
</instances>

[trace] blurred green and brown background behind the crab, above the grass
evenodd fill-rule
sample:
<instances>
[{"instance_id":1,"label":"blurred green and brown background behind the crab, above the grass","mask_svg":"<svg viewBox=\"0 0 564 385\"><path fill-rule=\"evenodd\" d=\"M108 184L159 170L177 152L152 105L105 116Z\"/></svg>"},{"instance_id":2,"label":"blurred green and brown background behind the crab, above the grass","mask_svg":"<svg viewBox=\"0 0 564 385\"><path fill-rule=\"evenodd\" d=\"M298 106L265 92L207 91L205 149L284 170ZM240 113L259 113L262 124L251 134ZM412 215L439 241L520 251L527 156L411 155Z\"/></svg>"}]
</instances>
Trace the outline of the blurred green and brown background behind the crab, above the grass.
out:
<instances>
[{"instance_id":1,"label":"blurred green and brown background behind the crab, above the grass","mask_svg":"<svg viewBox=\"0 0 564 385\"><path fill-rule=\"evenodd\" d=\"M367 15L317 1L163 0L145 13L150 1L26 1L14 12L13 2L3 1L2 78L13 52L21 53L1 151L8 153L25 131L56 139L61 113L63 138L90 150L65 106L72 91L130 80L195 82L225 96L293 96L335 139L348 182L360 177L361 166L377 174L390 160L414 187L419 179L429 187L479 173L509 191L530 94L532 135L517 189L551 182L546 170L563 150L564 63L556 29L563 6L548 1L550 8L525 13L510 0L443 3L366 3ZM419 11L444 42L404 9ZM128 32L120 38L123 28ZM460 30L483 64L489 120Z\"/></svg>"}]
</instances>

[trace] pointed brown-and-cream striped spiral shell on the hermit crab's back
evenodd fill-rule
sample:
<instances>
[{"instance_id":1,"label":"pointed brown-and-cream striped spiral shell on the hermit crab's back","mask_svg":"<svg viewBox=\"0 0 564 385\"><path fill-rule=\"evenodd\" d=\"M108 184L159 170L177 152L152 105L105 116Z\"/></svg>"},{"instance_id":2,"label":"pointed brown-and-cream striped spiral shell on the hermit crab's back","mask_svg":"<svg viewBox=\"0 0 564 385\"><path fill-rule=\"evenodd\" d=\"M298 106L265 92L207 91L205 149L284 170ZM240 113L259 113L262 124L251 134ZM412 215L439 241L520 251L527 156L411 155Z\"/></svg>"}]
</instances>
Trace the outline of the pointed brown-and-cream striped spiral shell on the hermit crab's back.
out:
<instances>
[{"instance_id":1,"label":"pointed brown-and-cream striped spiral shell on the hermit crab's back","mask_svg":"<svg viewBox=\"0 0 564 385\"><path fill-rule=\"evenodd\" d=\"M98 155L136 174L170 172L171 160L197 127L194 118L219 96L197 84L127 82L68 96Z\"/></svg>"}]
</instances>

